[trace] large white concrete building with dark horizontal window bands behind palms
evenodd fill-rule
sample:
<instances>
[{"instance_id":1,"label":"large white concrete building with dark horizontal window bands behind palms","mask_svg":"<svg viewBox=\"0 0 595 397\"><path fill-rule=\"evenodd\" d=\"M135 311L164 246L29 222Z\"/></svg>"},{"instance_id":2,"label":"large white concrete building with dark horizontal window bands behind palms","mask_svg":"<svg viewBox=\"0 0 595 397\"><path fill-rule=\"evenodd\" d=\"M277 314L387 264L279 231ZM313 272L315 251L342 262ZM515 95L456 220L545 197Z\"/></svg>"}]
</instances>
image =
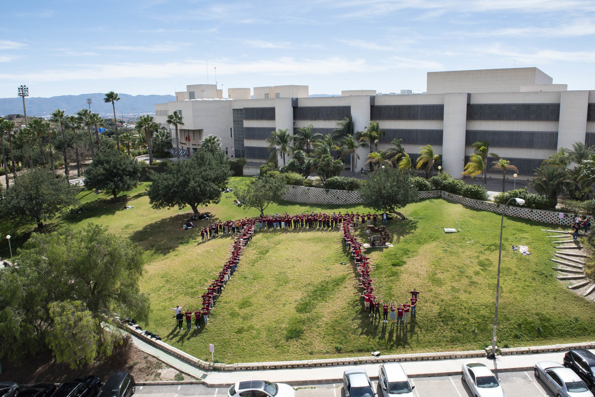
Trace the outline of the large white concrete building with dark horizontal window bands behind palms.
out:
<instances>
[{"instance_id":1,"label":"large white concrete building with dark horizontal window bands behind palms","mask_svg":"<svg viewBox=\"0 0 595 397\"><path fill-rule=\"evenodd\" d=\"M432 72L427 74L427 93L413 95L349 90L309 98L308 86L274 86L255 87L252 99L250 89L230 88L224 99L215 85L193 85L176 98L155 105L156 121L174 135L167 115L181 112L180 146L185 152L198 149L203 137L216 135L230 157L249 162L267 160L265 139L273 130L294 133L312 124L325 135L349 115L356 131L372 120L380 123L386 134L379 150L399 138L415 160L420 146L432 145L443 169L455 177L472 154L471 143L484 139L491 152L511 161L524 176L559 148L575 142L595 145L595 91L568 91L538 68ZM358 168L368 152L359 149Z\"/></svg>"}]
</instances>

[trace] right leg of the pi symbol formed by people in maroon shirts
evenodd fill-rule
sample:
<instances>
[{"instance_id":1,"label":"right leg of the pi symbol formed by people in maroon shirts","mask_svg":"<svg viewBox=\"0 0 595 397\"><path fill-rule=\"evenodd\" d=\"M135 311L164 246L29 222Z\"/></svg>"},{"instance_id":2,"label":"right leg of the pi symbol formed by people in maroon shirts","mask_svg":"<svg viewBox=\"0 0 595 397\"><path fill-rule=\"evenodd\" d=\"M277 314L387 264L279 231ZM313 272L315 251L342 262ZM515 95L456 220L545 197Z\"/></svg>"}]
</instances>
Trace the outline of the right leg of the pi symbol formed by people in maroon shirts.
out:
<instances>
[{"instance_id":1,"label":"right leg of the pi symbol formed by people in maroon shirts","mask_svg":"<svg viewBox=\"0 0 595 397\"><path fill-rule=\"evenodd\" d=\"M396 319L397 326L407 324L409 320L409 313L411 312L411 318L415 317L417 311L417 302L419 301L418 295L421 291L415 290L409 291L411 298L401 303L397 301L387 301L380 299L380 296L374 294L374 289L377 286L372 285L376 279L373 279L370 274L374 270L375 266L369 261L367 255L364 255L364 244L361 243L355 236L355 225L354 219L348 218L346 222L342 224L343 242L355 260L357 272L359 274L358 287L363 288L364 291L360 295L364 298L365 311L369 312L368 317L374 316L374 318L380 318L380 307L382 307L382 321L388 323L388 317L390 312L390 322L394 324Z\"/></svg>"}]
</instances>

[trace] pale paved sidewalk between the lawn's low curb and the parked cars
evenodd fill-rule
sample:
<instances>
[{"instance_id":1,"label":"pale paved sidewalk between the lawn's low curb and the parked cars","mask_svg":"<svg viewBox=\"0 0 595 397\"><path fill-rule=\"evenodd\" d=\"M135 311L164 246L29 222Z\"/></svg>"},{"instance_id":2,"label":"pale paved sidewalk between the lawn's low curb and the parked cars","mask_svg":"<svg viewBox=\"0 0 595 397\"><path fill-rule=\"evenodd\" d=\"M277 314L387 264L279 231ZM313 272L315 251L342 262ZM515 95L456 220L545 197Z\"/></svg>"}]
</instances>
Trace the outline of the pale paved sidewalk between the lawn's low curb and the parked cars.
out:
<instances>
[{"instance_id":1,"label":"pale paved sidewalk between the lawn's low curb and the parked cars","mask_svg":"<svg viewBox=\"0 0 595 397\"><path fill-rule=\"evenodd\" d=\"M316 368L290 368L279 370L261 370L261 371L203 371L193 365L187 364L179 358L173 357L155 348L148 343L143 342L137 337L133 337L134 346L165 362L177 370L196 377L196 383L203 383L209 387L225 387L233 385L238 380L265 379L271 382L289 383L289 385L322 385L327 383L343 382L343 371L350 368L350 365L338 365L333 367ZM594 351L595 352L595 351ZM497 356L497 360L488 360L487 358L456 358L451 360L424 360L424 361L402 361L405 372L409 377L432 377L432 376L452 376L461 374L461 366L467 361L483 362L493 371L513 372L530 371L538 361L556 361L562 362L564 352L551 352L541 354L508 354ZM361 364L358 368L367 371L372 379L378 377L379 364ZM188 383L188 382L184 382ZM148 385L177 384L177 382L146 382Z\"/></svg>"}]
</instances>

